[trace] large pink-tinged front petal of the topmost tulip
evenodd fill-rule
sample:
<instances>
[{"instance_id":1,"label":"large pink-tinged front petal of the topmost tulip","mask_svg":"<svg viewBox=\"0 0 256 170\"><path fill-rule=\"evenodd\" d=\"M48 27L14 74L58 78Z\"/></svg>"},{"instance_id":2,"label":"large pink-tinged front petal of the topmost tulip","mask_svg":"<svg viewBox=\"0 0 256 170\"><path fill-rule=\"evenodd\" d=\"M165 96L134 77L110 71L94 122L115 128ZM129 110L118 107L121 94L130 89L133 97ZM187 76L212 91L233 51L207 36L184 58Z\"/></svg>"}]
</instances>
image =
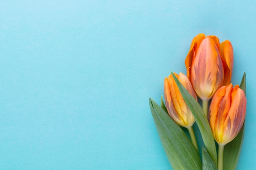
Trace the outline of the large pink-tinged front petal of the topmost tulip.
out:
<instances>
[{"instance_id":1,"label":"large pink-tinged front petal of the topmost tulip","mask_svg":"<svg viewBox=\"0 0 256 170\"><path fill-rule=\"evenodd\" d=\"M198 49L191 67L191 84L201 99L211 99L222 86L224 71L218 48L210 37Z\"/></svg>"}]
</instances>

